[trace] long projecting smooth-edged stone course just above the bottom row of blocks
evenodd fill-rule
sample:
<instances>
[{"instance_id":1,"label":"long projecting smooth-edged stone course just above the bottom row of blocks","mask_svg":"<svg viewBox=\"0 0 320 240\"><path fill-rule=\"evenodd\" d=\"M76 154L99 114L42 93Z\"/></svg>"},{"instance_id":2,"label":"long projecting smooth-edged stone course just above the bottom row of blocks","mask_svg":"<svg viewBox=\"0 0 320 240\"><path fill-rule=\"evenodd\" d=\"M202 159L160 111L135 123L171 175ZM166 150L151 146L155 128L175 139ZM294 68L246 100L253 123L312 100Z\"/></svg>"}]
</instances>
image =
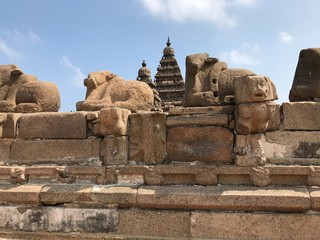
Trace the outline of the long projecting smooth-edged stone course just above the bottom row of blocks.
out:
<instances>
[{"instance_id":1,"label":"long projecting smooth-edged stone course just above the bottom row of blocks","mask_svg":"<svg viewBox=\"0 0 320 240\"><path fill-rule=\"evenodd\" d=\"M0 203L3 206L306 212L320 209L320 190L306 187L7 184L0 185Z\"/></svg>"}]
</instances>

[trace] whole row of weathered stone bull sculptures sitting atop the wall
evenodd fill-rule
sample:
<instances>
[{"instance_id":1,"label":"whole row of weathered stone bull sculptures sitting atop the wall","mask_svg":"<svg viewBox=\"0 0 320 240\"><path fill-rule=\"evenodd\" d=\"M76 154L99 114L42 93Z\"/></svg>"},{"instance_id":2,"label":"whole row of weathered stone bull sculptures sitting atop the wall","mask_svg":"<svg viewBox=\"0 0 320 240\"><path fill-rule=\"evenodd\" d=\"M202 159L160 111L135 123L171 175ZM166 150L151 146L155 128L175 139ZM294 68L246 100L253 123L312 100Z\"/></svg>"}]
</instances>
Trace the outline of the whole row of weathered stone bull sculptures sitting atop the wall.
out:
<instances>
[{"instance_id":1,"label":"whole row of weathered stone bull sculptures sitting atop the wall","mask_svg":"<svg viewBox=\"0 0 320 240\"><path fill-rule=\"evenodd\" d=\"M319 100L319 66L320 49L301 51L290 101ZM85 100L76 104L78 111L96 111L112 106L134 112L148 111L157 98L147 84L126 81L109 71L89 73L84 85L87 93ZM228 68L226 63L207 53L186 58L185 107L239 105L275 99L276 89L268 77L246 69ZM0 65L0 112L55 112L59 107L56 84L41 82L35 76L24 74L15 65ZM248 112L249 108L239 105L237 112Z\"/></svg>"}]
</instances>

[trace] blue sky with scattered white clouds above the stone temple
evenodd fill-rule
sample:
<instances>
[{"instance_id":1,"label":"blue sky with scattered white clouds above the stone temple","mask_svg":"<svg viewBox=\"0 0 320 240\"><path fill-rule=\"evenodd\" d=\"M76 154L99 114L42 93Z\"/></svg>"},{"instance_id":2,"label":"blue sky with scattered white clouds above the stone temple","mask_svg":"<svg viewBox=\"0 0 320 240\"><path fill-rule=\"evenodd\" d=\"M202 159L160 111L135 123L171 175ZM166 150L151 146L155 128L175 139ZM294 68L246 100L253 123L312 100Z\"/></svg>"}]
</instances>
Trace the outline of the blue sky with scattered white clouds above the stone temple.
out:
<instances>
[{"instance_id":1,"label":"blue sky with scattered white clouds above the stone temple","mask_svg":"<svg viewBox=\"0 0 320 240\"><path fill-rule=\"evenodd\" d=\"M318 0L0 0L0 64L58 85L61 112L85 99L83 80L110 70L156 74L168 36L185 58L208 53L268 76L288 102L299 52L320 47Z\"/></svg>"}]
</instances>

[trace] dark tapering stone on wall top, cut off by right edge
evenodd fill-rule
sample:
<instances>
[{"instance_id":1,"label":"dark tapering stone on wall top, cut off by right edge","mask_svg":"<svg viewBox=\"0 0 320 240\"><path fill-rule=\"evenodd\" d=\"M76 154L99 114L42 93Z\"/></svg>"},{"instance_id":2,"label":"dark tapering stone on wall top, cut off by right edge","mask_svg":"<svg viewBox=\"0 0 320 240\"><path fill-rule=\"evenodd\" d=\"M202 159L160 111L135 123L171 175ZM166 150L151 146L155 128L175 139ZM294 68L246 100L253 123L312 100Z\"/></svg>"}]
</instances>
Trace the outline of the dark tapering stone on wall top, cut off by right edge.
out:
<instances>
[{"instance_id":1,"label":"dark tapering stone on wall top, cut off by right edge","mask_svg":"<svg viewBox=\"0 0 320 240\"><path fill-rule=\"evenodd\" d=\"M320 48L300 51L296 72L289 94L290 102L319 101Z\"/></svg>"}]
</instances>

